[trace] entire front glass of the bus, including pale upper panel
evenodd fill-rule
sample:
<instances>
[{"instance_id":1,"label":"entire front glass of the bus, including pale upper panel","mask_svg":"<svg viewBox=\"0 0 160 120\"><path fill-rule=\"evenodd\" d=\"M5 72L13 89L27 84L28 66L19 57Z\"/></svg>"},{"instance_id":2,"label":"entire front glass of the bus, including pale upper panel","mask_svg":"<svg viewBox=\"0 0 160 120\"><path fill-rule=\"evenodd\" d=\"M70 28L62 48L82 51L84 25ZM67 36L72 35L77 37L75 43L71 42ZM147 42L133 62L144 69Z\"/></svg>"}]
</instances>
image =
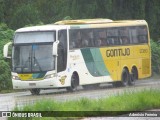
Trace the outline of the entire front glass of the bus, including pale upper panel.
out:
<instances>
[{"instance_id":1,"label":"entire front glass of the bus, including pale upper panel","mask_svg":"<svg viewBox=\"0 0 160 120\"><path fill-rule=\"evenodd\" d=\"M54 41L55 31L17 32L12 51L12 71L32 73L54 70Z\"/></svg>"}]
</instances>

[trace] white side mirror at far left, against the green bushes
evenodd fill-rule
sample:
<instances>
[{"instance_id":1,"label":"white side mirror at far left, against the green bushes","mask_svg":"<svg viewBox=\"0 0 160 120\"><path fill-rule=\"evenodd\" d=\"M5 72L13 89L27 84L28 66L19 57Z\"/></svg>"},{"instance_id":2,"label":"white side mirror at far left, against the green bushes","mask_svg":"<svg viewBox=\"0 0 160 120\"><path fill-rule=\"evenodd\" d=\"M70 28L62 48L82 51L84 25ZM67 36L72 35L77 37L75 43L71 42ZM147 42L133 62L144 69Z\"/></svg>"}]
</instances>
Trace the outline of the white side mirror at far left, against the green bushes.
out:
<instances>
[{"instance_id":1,"label":"white side mirror at far left, against the green bushes","mask_svg":"<svg viewBox=\"0 0 160 120\"><path fill-rule=\"evenodd\" d=\"M9 50L9 46L12 44L12 42L8 42L3 47L3 57L4 58L11 58L11 50Z\"/></svg>"}]
</instances>

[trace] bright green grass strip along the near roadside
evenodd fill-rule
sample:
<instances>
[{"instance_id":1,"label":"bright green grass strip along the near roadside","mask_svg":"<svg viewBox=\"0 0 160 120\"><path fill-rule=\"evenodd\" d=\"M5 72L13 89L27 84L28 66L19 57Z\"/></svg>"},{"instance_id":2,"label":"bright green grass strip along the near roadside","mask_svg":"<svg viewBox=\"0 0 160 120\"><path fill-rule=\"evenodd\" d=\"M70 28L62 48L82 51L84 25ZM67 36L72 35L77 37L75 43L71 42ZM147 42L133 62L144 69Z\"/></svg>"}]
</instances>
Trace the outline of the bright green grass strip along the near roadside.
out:
<instances>
[{"instance_id":1,"label":"bright green grass strip along the near roadside","mask_svg":"<svg viewBox=\"0 0 160 120\"><path fill-rule=\"evenodd\" d=\"M77 111L77 113L83 116L84 112L80 111L95 111L93 114L99 111L109 111L109 113L113 113L112 115L117 115L118 111L125 111L126 113L127 111L145 111L158 108L160 108L160 90L150 89L139 92L124 92L123 94L117 94L109 98L101 98L98 100L90 100L87 98L65 102L43 100L36 102L34 105L15 108L14 111ZM10 119L12 120L15 118ZM45 120L46 118L41 119ZM68 118L56 117L54 119Z\"/></svg>"}]
</instances>

